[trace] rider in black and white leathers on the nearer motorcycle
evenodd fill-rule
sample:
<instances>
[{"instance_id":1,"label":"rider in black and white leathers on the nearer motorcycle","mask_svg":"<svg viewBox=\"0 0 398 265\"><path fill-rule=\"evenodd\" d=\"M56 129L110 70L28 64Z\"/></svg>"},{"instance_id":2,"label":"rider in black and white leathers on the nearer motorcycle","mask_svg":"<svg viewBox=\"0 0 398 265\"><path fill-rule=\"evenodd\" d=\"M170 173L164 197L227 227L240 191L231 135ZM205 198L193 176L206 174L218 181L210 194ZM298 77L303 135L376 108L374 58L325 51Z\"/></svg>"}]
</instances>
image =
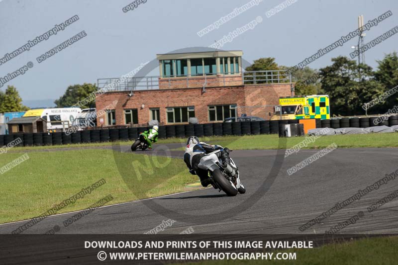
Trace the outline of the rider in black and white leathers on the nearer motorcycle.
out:
<instances>
[{"instance_id":1,"label":"rider in black and white leathers on the nearer motorcycle","mask_svg":"<svg viewBox=\"0 0 398 265\"><path fill-rule=\"evenodd\" d=\"M187 164L187 167L189 168L192 175L199 176L200 183L203 187L207 187L209 184L212 184L212 181L211 178L209 178L207 175L207 170L200 169L198 165L200 163L200 160L204 156L215 150L221 150L221 152L217 153L217 156L220 156L222 160L226 163L231 163L229 159L228 148L223 148L219 145L208 145L204 142L199 142L199 139L196 136L191 136L188 138L187 146L184 153L184 162L185 164Z\"/></svg>"}]
</instances>

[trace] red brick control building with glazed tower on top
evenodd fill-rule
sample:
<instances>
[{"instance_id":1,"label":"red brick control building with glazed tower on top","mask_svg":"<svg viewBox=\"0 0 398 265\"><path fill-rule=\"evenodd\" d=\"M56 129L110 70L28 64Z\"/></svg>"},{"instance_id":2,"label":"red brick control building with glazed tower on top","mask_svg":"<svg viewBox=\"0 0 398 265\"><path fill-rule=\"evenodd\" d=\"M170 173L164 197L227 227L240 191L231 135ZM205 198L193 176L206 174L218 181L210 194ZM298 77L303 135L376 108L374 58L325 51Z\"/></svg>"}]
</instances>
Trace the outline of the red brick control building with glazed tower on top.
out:
<instances>
[{"instance_id":1,"label":"red brick control building with glazed tower on top","mask_svg":"<svg viewBox=\"0 0 398 265\"><path fill-rule=\"evenodd\" d=\"M222 122L241 114L268 119L292 94L286 71L242 73L242 51L160 54L159 76L132 78L96 97L99 126ZM100 79L99 88L115 79ZM116 103L116 104L113 104ZM112 107L109 109L109 105Z\"/></svg>"}]
</instances>

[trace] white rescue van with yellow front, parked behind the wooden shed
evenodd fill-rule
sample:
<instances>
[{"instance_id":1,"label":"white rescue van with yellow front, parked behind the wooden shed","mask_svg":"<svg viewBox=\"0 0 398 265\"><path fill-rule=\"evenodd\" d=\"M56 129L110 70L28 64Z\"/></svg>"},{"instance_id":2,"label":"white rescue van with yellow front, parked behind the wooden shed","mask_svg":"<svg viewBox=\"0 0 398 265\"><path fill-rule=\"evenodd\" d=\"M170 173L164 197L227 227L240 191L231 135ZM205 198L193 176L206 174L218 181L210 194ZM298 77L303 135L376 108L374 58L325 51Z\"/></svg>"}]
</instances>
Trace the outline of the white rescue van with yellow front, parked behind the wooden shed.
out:
<instances>
[{"instance_id":1,"label":"white rescue van with yellow front, parked behind the wooden shed","mask_svg":"<svg viewBox=\"0 0 398 265\"><path fill-rule=\"evenodd\" d=\"M72 126L81 112L81 108L44 108L28 110L23 116L40 116L47 121L48 132L62 132Z\"/></svg>"}]
</instances>

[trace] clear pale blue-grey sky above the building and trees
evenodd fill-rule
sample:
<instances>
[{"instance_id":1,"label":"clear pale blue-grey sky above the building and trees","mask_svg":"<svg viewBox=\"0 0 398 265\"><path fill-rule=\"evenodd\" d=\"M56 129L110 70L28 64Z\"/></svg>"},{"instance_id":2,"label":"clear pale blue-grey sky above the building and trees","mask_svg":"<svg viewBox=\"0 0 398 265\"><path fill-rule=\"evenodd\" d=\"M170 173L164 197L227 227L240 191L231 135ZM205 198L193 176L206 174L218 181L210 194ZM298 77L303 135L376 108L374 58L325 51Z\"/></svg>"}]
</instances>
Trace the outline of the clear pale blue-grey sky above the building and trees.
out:
<instances>
[{"instance_id":1,"label":"clear pale blue-grey sky above the building and trees","mask_svg":"<svg viewBox=\"0 0 398 265\"><path fill-rule=\"evenodd\" d=\"M145 0L144 0L145 1ZM290 6L267 17L283 0L263 0L258 5L199 37L197 32L250 0L146 0L133 10L122 8L131 0L2 0L0 1L0 59L28 40L66 19L79 20L15 58L0 65L0 78L33 63L24 75L4 84L13 85L23 100L56 99L69 85L96 83L98 78L120 77L156 59L156 54L187 47L207 47L261 16L253 29L225 43L223 50L243 50L243 59L275 57L280 65L293 66L365 23L391 10L393 15L366 31L365 43L398 25L397 0L291 0ZM36 58L81 31L87 36L40 64ZM366 63L397 51L398 34L366 52ZM346 42L312 62L311 68L348 56L358 38ZM159 71L154 70L153 75Z\"/></svg>"}]
</instances>

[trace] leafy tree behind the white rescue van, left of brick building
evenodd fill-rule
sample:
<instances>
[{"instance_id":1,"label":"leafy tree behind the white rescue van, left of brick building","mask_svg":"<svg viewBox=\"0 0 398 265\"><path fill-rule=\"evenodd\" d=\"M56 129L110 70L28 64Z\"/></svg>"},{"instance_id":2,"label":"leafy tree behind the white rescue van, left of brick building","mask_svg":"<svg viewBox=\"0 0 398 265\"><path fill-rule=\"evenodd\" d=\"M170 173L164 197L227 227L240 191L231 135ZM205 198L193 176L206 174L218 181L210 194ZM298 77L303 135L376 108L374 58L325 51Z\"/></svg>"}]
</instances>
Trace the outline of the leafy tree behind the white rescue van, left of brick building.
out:
<instances>
[{"instance_id":1,"label":"leafy tree behind the white rescue van, left of brick building","mask_svg":"<svg viewBox=\"0 0 398 265\"><path fill-rule=\"evenodd\" d=\"M54 103L57 107L71 107L76 105L82 99L88 97L91 93L97 91L97 86L95 84L84 83L83 85L73 85L69 86L64 95L62 95L59 99L55 100ZM95 100L79 106L81 108L94 108L96 107Z\"/></svg>"}]
</instances>

